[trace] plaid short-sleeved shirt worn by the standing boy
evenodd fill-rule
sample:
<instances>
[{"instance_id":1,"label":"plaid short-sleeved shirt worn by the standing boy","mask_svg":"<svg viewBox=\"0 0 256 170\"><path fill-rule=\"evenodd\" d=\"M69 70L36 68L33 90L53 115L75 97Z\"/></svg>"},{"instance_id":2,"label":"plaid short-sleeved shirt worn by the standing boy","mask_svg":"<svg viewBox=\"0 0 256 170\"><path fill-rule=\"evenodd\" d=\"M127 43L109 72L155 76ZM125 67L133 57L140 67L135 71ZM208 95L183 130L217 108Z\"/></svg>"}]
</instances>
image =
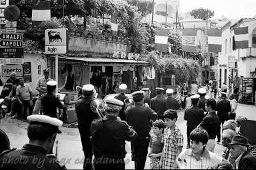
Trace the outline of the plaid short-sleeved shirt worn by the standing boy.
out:
<instances>
[{"instance_id":1,"label":"plaid short-sleeved shirt worn by the standing boy","mask_svg":"<svg viewBox=\"0 0 256 170\"><path fill-rule=\"evenodd\" d=\"M161 169L171 169L177 157L178 147L183 147L183 135L180 129L177 126L173 130L166 128L162 143L164 143L164 148L161 158Z\"/></svg>"}]
</instances>

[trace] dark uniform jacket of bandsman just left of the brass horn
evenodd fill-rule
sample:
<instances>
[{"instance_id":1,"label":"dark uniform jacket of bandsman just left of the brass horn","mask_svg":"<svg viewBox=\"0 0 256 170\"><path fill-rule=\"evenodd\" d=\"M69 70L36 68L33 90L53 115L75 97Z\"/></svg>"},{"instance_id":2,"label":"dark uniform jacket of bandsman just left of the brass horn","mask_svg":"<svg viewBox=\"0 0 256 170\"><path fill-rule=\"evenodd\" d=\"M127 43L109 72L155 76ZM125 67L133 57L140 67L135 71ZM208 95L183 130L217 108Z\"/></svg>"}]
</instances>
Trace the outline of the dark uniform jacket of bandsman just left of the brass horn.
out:
<instances>
[{"instance_id":1,"label":"dark uniform jacket of bandsman just left of the brass horn","mask_svg":"<svg viewBox=\"0 0 256 170\"><path fill-rule=\"evenodd\" d=\"M93 112L91 109L91 102L92 97L84 97L76 102L76 114L77 114L77 121L80 124L90 125L92 124L93 120L99 119L97 113Z\"/></svg>"}]
</instances>

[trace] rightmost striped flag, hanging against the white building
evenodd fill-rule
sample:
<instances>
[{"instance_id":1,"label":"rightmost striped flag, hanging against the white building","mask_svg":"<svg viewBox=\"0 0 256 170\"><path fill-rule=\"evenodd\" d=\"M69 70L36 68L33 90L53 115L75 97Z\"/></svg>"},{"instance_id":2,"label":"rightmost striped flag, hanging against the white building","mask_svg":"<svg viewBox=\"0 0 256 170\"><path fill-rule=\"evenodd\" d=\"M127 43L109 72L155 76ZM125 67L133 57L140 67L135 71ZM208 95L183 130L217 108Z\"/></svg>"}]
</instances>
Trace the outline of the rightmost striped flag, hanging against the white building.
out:
<instances>
[{"instance_id":1,"label":"rightmost striped flag, hanging against the white building","mask_svg":"<svg viewBox=\"0 0 256 170\"><path fill-rule=\"evenodd\" d=\"M236 49L248 49L249 35L248 27L234 27Z\"/></svg>"}]
</instances>

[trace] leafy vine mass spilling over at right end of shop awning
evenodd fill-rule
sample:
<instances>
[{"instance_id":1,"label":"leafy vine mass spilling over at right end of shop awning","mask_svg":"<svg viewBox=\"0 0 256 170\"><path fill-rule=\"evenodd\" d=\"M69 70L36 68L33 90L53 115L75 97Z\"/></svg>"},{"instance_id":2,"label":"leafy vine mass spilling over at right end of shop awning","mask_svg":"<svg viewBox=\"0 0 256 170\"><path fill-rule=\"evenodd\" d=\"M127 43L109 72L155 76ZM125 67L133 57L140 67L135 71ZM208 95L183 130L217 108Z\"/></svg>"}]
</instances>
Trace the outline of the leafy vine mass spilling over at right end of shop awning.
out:
<instances>
[{"instance_id":1,"label":"leafy vine mass spilling over at right end of shop awning","mask_svg":"<svg viewBox=\"0 0 256 170\"><path fill-rule=\"evenodd\" d=\"M176 54L162 55L152 51L141 57L154 66L159 73L173 73L177 83L195 80L200 72L198 61L181 58Z\"/></svg>"}]
</instances>

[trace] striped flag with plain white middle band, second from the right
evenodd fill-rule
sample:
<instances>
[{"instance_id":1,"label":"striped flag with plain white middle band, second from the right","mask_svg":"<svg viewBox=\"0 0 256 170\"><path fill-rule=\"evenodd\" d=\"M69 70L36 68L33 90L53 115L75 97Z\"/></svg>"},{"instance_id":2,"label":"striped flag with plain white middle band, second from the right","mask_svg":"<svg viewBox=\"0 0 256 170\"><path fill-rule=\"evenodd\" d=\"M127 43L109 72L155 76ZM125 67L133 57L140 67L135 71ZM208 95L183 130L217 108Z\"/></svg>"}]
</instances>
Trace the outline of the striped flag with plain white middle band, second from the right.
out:
<instances>
[{"instance_id":1,"label":"striped flag with plain white middle band, second from the right","mask_svg":"<svg viewBox=\"0 0 256 170\"><path fill-rule=\"evenodd\" d=\"M209 52L221 52L221 30L210 29L208 30L208 51Z\"/></svg>"}]
</instances>

